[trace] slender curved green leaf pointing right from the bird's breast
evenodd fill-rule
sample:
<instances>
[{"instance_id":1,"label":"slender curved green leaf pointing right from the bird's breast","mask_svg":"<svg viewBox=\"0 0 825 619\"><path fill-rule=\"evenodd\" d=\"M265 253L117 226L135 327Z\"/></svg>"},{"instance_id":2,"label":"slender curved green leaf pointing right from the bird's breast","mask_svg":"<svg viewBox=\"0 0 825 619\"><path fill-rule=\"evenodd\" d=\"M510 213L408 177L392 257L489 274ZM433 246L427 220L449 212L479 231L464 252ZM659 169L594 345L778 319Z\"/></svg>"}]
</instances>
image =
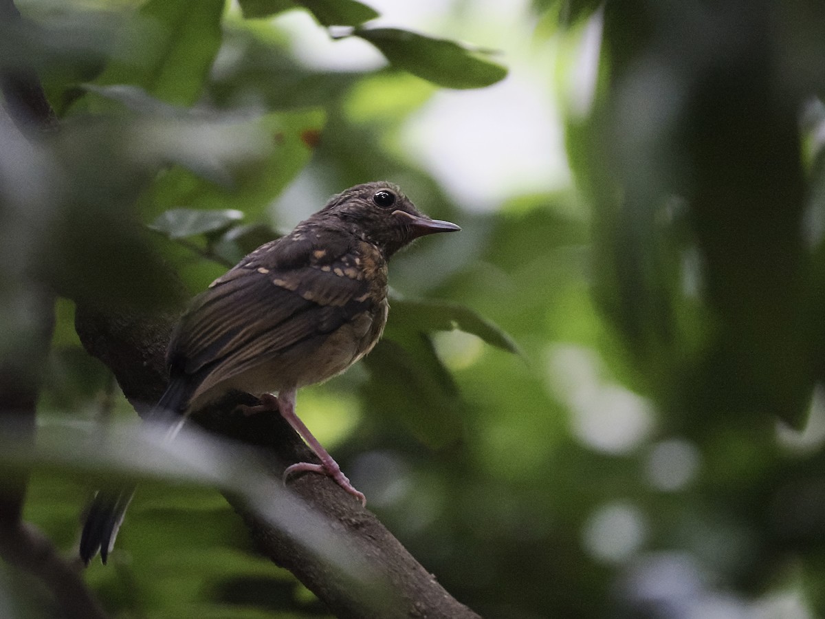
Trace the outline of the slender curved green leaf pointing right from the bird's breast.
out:
<instances>
[{"instance_id":1,"label":"slender curved green leaf pointing right from the bird's breast","mask_svg":"<svg viewBox=\"0 0 825 619\"><path fill-rule=\"evenodd\" d=\"M390 337L398 330L417 329L429 333L457 328L478 336L492 346L521 354L507 333L464 305L449 301L400 299L393 299L391 305L393 320L387 325Z\"/></svg>"}]
</instances>

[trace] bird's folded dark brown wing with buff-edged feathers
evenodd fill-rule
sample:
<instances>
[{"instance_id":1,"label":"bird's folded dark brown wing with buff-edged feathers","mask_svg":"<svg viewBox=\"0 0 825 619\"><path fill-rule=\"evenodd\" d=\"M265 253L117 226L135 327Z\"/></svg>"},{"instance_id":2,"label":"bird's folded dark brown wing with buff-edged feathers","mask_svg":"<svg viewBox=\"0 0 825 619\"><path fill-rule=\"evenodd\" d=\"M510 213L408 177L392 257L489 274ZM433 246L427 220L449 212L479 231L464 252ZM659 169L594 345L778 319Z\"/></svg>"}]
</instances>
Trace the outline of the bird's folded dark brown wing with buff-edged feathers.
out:
<instances>
[{"instance_id":1,"label":"bird's folded dark brown wing with buff-edged feathers","mask_svg":"<svg viewBox=\"0 0 825 619\"><path fill-rule=\"evenodd\" d=\"M348 253L301 267L260 263L242 262L196 297L172 335L173 369L189 376L216 373L224 380L307 338L331 333L373 304L370 284Z\"/></svg>"}]
</instances>

